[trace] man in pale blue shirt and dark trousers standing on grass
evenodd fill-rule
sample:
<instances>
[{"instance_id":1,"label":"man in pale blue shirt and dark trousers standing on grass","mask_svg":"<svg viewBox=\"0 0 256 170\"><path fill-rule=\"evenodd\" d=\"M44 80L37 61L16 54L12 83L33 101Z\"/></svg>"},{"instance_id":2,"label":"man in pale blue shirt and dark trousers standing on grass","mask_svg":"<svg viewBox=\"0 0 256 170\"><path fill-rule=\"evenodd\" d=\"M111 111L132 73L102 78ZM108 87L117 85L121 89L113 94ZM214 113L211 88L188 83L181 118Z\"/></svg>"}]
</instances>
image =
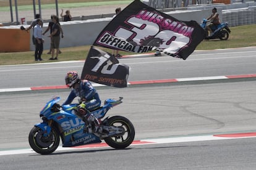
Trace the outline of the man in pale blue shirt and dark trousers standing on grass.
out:
<instances>
[{"instance_id":1,"label":"man in pale blue shirt and dark trousers standing on grass","mask_svg":"<svg viewBox=\"0 0 256 170\"><path fill-rule=\"evenodd\" d=\"M41 61L41 54L43 53L43 29L41 28L42 21L40 19L36 20L36 25L34 27L33 36L35 38L35 61Z\"/></svg>"}]
</instances>

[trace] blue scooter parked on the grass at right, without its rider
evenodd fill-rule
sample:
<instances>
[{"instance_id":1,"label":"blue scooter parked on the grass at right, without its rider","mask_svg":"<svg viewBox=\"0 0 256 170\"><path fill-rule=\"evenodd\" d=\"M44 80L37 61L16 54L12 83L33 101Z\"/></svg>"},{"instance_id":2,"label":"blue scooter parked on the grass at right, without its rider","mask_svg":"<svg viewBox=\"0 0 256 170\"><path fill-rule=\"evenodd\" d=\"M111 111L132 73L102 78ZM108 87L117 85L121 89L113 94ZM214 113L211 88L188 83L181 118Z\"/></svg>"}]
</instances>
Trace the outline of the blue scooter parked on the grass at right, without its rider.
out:
<instances>
[{"instance_id":1,"label":"blue scooter parked on the grass at right, without its rider","mask_svg":"<svg viewBox=\"0 0 256 170\"><path fill-rule=\"evenodd\" d=\"M206 33L208 34L207 30L207 23L209 20L203 19L200 26L202 26L203 29L205 29ZM205 39L221 39L221 40L227 40L229 38L229 34L231 33L228 22L220 23L216 28L211 28L213 33L210 34L210 36L207 36Z\"/></svg>"}]
</instances>

